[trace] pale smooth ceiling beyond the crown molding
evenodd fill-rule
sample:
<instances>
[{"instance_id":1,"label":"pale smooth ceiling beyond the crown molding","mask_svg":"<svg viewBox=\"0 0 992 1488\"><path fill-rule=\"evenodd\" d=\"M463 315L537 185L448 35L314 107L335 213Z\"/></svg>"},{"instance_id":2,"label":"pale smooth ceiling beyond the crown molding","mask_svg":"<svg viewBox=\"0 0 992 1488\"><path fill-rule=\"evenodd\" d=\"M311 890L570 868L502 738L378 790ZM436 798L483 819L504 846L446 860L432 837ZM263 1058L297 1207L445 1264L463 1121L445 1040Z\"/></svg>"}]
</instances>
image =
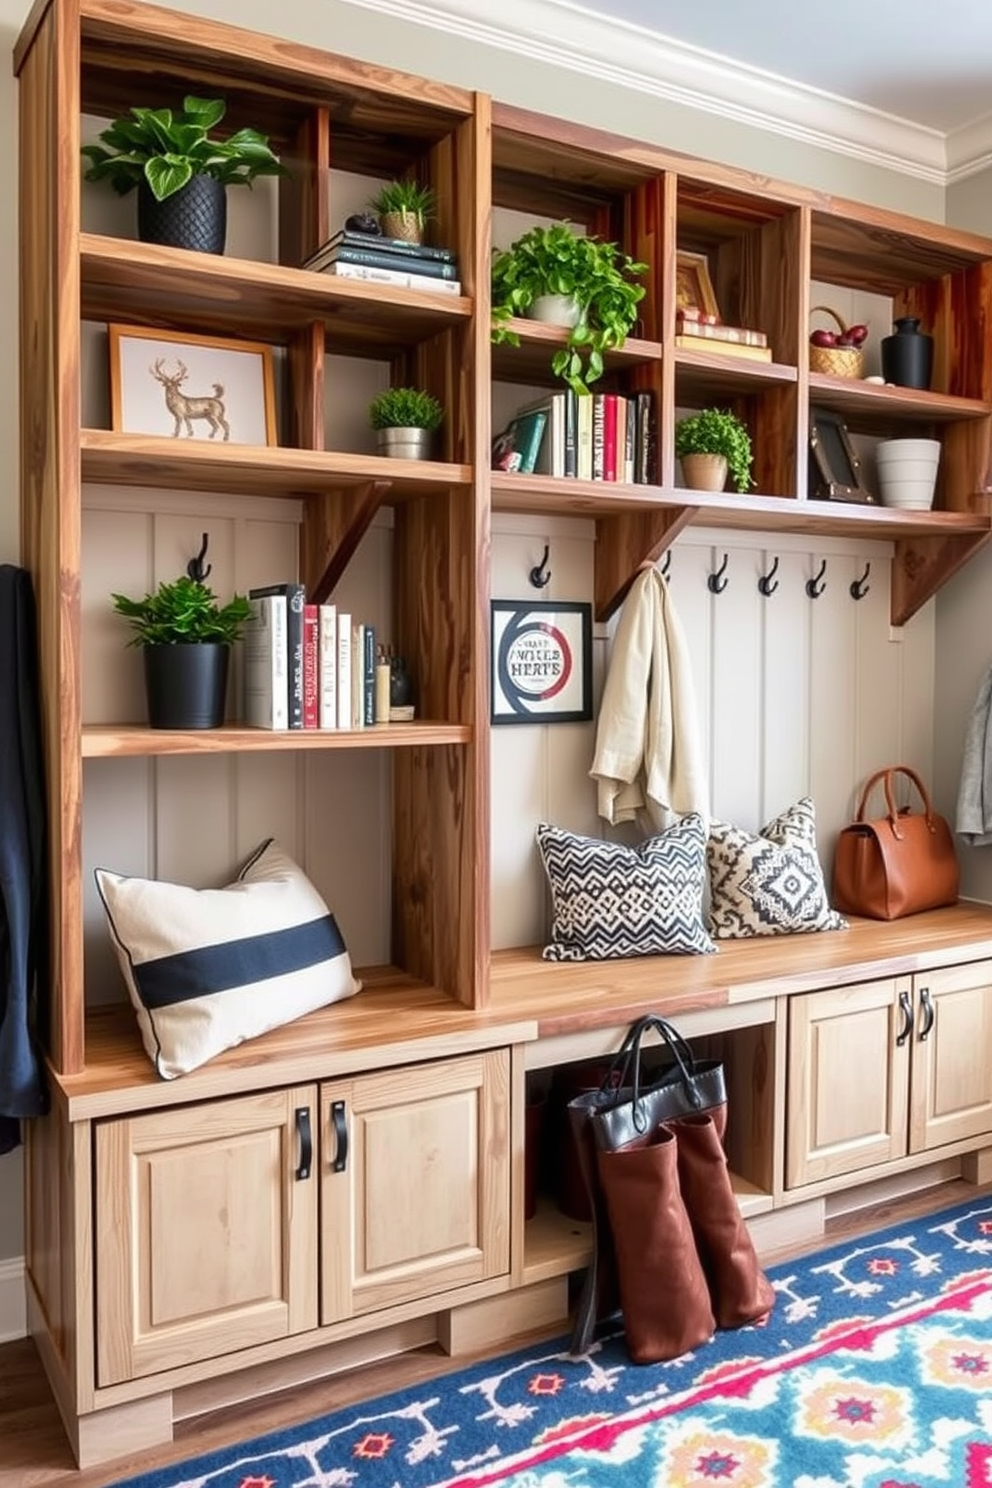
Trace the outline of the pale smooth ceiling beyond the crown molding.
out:
<instances>
[{"instance_id":1,"label":"pale smooth ceiling beyond the crown molding","mask_svg":"<svg viewBox=\"0 0 992 1488\"><path fill-rule=\"evenodd\" d=\"M992 115L992 6L976 0L602 0L576 9L941 134Z\"/></svg>"}]
</instances>

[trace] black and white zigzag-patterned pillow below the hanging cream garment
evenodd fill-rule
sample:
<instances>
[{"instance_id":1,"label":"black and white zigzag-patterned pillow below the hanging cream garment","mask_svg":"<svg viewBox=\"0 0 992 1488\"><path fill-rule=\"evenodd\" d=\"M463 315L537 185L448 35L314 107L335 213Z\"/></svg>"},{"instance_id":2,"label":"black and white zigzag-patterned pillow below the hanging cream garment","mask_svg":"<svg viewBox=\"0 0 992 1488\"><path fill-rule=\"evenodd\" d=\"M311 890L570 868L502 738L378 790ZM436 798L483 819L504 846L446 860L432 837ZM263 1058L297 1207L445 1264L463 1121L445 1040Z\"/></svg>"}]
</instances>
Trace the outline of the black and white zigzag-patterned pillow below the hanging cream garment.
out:
<instances>
[{"instance_id":1,"label":"black and white zigzag-patterned pillow below the hanging cream garment","mask_svg":"<svg viewBox=\"0 0 992 1488\"><path fill-rule=\"evenodd\" d=\"M552 888L546 961L715 951L702 920L706 829L696 812L638 847L541 823L537 845Z\"/></svg>"}]
</instances>

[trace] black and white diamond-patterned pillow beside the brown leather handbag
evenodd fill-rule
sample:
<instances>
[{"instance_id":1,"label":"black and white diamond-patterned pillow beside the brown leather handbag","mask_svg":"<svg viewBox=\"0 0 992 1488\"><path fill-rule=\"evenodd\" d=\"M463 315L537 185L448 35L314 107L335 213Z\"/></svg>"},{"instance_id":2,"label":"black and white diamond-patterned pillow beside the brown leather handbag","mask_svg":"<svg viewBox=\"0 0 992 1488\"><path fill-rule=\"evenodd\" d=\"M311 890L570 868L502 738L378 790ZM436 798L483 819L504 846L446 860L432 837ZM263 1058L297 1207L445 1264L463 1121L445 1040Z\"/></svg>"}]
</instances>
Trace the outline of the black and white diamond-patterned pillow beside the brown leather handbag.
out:
<instances>
[{"instance_id":1,"label":"black and white diamond-patterned pillow beside the brown leather handbag","mask_svg":"<svg viewBox=\"0 0 992 1488\"><path fill-rule=\"evenodd\" d=\"M803 930L846 930L830 908L817 856L817 811L809 796L756 836L727 821L709 824L709 933L720 940Z\"/></svg>"}]
</instances>

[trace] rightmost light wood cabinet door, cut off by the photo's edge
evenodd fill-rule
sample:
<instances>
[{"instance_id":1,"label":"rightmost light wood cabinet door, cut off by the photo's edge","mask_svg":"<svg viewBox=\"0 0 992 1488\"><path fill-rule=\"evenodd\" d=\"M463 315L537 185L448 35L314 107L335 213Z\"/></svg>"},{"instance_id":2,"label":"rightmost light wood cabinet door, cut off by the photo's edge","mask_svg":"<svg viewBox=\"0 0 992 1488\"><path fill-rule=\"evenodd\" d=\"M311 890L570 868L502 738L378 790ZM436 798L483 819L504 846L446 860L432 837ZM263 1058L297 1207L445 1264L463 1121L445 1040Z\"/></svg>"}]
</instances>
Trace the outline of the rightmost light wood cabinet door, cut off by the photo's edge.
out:
<instances>
[{"instance_id":1,"label":"rightmost light wood cabinet door, cut off by the photo's edge","mask_svg":"<svg viewBox=\"0 0 992 1488\"><path fill-rule=\"evenodd\" d=\"M992 963L915 978L910 1152L992 1131Z\"/></svg>"}]
</instances>

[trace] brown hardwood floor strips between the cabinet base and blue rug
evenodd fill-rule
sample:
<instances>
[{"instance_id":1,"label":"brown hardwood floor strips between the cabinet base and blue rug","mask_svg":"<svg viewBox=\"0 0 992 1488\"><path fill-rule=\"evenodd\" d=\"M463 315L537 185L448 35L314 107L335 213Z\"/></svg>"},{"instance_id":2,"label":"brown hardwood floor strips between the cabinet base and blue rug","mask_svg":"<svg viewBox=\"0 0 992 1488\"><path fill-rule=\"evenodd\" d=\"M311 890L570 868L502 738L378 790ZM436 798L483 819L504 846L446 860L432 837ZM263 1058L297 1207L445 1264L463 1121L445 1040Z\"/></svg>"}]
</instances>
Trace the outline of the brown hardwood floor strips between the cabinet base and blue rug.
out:
<instances>
[{"instance_id":1,"label":"brown hardwood floor strips between the cabinet base and blue rug","mask_svg":"<svg viewBox=\"0 0 992 1488\"><path fill-rule=\"evenodd\" d=\"M805 1247L773 1251L761 1259L767 1265L834 1244L851 1235L861 1235L885 1225L898 1223L918 1214L928 1214L950 1204L964 1202L989 1189L970 1183L944 1183L910 1198L875 1204L830 1220L824 1241ZM501 1350L503 1351L503 1350ZM260 1436L278 1427L306 1421L326 1411L335 1411L354 1400L370 1399L390 1390L416 1384L454 1369L464 1369L467 1360L452 1363L439 1350L418 1350L366 1369L354 1370L318 1384L306 1385L253 1400L214 1415L184 1421L175 1428L175 1440L155 1452L119 1458L113 1464L79 1472L65 1440L65 1433L52 1400L34 1344L19 1339L0 1345L0 1488L106 1488L135 1473L168 1463L181 1461L211 1448L226 1446Z\"/></svg>"}]
</instances>

